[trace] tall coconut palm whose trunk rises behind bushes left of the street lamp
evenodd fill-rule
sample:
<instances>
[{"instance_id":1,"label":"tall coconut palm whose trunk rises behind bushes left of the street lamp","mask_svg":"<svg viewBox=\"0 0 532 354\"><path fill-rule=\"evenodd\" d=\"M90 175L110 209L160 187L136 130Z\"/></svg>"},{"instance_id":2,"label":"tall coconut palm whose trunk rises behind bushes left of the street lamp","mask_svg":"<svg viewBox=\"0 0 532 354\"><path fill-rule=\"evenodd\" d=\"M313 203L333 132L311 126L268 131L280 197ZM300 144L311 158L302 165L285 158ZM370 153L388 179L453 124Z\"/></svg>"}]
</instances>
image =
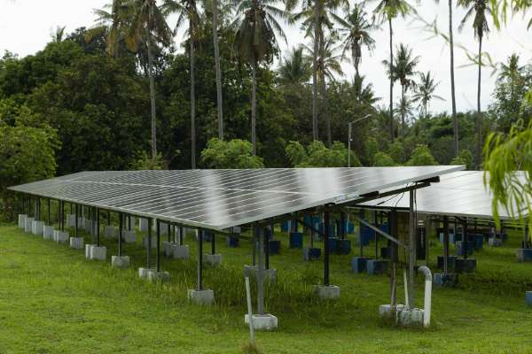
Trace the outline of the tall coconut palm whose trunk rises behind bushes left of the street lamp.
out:
<instances>
[{"instance_id":1,"label":"tall coconut palm whose trunk rises behind bushes left of the street lamp","mask_svg":"<svg viewBox=\"0 0 532 354\"><path fill-rule=\"evenodd\" d=\"M330 14L334 12L340 4L347 5L347 0L287 0L286 11L291 12L301 3L301 11L293 14L290 22L294 23L302 20L301 28L305 31L305 36L313 38L312 53L316 55L312 58L312 137L315 141L319 139L317 130L317 96L318 96L318 62L317 55L324 41L324 28L332 29L333 24Z\"/></svg>"}]
</instances>

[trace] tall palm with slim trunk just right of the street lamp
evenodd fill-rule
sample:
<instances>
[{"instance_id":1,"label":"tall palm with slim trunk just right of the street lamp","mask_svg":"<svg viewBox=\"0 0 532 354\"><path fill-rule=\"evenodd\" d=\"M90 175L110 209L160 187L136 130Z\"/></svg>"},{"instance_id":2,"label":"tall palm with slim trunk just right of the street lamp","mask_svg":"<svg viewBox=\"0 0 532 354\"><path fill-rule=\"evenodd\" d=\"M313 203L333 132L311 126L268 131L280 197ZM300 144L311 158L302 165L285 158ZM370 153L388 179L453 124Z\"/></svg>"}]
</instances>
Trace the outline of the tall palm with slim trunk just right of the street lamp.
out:
<instances>
[{"instance_id":1,"label":"tall palm with slim trunk just right of the street lamp","mask_svg":"<svg viewBox=\"0 0 532 354\"><path fill-rule=\"evenodd\" d=\"M389 35L390 35L390 43L389 43L389 49L390 49L390 61L388 63L388 70L391 73L392 72L392 65L394 64L394 30L392 27L392 20L395 19L397 16L406 17L408 13L412 11L412 7L410 4L406 2L406 0L378 0L379 4L377 4L377 7L375 7L375 10L373 10L373 13L380 18L380 23L387 22L389 27ZM390 138L391 141L394 142L394 80L390 76L390 109L389 109L389 115L390 115Z\"/></svg>"}]
</instances>

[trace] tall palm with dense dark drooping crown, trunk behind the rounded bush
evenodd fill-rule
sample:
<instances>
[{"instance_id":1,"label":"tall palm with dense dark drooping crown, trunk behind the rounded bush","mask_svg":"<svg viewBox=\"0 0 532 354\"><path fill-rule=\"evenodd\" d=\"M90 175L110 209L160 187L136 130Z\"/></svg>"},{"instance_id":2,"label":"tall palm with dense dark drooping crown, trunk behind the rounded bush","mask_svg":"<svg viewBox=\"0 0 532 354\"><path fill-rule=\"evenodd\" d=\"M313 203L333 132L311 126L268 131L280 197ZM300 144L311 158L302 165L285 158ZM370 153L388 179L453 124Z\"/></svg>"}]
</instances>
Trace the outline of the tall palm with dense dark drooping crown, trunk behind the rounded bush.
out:
<instances>
[{"instance_id":1,"label":"tall palm with dense dark drooping crown, trunk behind the rounded bush","mask_svg":"<svg viewBox=\"0 0 532 354\"><path fill-rule=\"evenodd\" d=\"M251 143L256 155L256 91L257 67L270 63L279 52L279 35L286 42L286 35L277 19L288 19L287 12L274 6L275 0L242 0L237 6L234 48L241 62L251 65Z\"/></svg>"}]
</instances>

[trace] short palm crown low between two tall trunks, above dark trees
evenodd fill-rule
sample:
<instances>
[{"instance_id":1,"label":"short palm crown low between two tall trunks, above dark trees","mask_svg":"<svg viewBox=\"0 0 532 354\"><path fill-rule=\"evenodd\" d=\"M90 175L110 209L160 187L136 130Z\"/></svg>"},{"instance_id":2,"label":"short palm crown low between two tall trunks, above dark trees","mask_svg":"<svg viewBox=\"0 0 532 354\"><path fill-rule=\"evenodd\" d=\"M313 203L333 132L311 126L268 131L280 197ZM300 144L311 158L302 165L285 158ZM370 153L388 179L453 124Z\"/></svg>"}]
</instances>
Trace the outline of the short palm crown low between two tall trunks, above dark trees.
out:
<instances>
[{"instance_id":1,"label":"short palm crown low between two tall trunks, above dark trees","mask_svg":"<svg viewBox=\"0 0 532 354\"><path fill-rule=\"evenodd\" d=\"M282 86L297 86L309 81L312 74L310 61L303 56L304 47L293 48L278 69L278 82Z\"/></svg>"}]
</instances>

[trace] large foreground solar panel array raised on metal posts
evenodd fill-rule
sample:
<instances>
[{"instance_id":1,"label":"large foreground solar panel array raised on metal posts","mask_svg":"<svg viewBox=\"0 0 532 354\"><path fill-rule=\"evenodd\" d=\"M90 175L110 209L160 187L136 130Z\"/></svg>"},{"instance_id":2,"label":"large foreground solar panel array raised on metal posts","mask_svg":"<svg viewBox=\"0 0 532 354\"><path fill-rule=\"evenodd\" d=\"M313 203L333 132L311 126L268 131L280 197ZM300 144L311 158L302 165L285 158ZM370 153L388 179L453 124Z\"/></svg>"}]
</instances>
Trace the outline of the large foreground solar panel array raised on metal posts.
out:
<instances>
[{"instance_id":1,"label":"large foreground solar panel array raised on metal posts","mask_svg":"<svg viewBox=\"0 0 532 354\"><path fill-rule=\"evenodd\" d=\"M11 189L220 230L345 203L460 169L463 166L82 172Z\"/></svg>"}]
</instances>

